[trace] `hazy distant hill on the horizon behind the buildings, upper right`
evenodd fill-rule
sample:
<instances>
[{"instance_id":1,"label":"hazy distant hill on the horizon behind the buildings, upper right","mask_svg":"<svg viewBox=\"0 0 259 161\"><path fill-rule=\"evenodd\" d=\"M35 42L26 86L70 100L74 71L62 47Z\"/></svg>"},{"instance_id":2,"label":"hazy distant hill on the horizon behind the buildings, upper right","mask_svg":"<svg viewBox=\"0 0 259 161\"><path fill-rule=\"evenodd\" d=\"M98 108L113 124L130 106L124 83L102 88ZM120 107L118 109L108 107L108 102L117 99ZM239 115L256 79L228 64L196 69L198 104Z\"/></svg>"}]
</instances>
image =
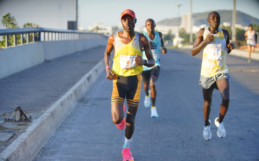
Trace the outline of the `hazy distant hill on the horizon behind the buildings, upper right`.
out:
<instances>
[{"instance_id":1,"label":"hazy distant hill on the horizon behind the buildings, upper right","mask_svg":"<svg viewBox=\"0 0 259 161\"><path fill-rule=\"evenodd\" d=\"M216 10L220 14L221 24L223 22L230 22L232 24L232 10ZM202 24L208 24L207 18L208 14L212 11L202 12L202 13L193 13L195 16L194 26L200 26ZM179 26L180 18L170 18L164 19L159 22L159 24L167 26ZM259 19L252 17L244 12L236 11L236 24L241 24L242 26L248 26L249 24L259 24Z\"/></svg>"}]
</instances>

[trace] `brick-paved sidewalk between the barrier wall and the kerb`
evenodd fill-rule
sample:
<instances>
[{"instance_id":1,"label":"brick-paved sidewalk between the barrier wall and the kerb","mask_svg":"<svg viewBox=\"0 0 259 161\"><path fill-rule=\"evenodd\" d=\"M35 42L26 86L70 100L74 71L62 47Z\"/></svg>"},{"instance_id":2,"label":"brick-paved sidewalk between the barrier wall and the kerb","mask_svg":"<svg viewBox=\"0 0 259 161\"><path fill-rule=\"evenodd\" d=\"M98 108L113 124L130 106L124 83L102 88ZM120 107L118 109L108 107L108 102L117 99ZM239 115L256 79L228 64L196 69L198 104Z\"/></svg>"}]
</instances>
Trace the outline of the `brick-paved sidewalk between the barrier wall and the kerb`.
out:
<instances>
[{"instance_id":1,"label":"brick-paved sidewalk between the barrier wall and the kerb","mask_svg":"<svg viewBox=\"0 0 259 161\"><path fill-rule=\"evenodd\" d=\"M83 50L0 79L0 153L27 124L2 123L16 107L35 120L104 57L105 46Z\"/></svg>"}]
</instances>

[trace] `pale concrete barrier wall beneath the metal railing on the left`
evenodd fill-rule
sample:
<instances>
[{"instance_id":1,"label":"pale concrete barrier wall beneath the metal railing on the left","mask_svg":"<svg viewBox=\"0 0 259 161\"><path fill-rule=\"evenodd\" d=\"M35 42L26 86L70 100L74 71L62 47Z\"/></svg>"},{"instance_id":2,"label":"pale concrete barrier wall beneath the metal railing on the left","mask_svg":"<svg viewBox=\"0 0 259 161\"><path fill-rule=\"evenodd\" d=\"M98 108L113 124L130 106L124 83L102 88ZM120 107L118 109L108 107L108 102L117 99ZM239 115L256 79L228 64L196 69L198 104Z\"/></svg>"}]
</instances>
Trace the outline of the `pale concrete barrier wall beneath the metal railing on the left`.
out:
<instances>
[{"instance_id":1,"label":"pale concrete barrier wall beneath the metal railing on the left","mask_svg":"<svg viewBox=\"0 0 259 161\"><path fill-rule=\"evenodd\" d=\"M108 38L107 38L108 39ZM45 60L107 44L106 38L38 41L0 49L0 78L22 71Z\"/></svg>"}]
</instances>

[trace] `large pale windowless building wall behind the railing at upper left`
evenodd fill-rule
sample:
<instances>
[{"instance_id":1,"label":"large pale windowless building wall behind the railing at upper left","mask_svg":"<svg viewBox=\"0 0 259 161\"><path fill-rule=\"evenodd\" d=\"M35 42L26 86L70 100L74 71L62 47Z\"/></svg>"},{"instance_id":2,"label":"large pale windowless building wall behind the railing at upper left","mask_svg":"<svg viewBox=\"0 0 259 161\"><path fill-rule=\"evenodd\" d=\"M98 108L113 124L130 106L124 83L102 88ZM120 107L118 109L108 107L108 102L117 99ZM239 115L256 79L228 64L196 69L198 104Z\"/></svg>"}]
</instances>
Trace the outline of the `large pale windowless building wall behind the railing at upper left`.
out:
<instances>
[{"instance_id":1,"label":"large pale windowless building wall behind the railing at upper left","mask_svg":"<svg viewBox=\"0 0 259 161\"><path fill-rule=\"evenodd\" d=\"M76 26L76 0L1 0L1 19L7 13L15 17L21 28L27 22L55 29ZM5 29L2 23L0 29Z\"/></svg>"}]
</instances>

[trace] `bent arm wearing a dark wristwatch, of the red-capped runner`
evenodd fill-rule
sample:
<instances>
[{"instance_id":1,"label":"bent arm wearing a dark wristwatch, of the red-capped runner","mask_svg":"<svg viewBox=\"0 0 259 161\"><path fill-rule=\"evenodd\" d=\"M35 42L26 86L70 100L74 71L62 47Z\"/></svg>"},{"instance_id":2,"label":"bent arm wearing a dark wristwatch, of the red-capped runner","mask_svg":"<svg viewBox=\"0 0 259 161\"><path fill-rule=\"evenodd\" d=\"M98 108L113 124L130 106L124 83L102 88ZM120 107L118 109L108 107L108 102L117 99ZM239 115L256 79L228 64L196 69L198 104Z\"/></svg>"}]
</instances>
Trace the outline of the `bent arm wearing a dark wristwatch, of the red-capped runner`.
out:
<instances>
[{"instance_id":1,"label":"bent arm wearing a dark wristwatch, of the red-capped runner","mask_svg":"<svg viewBox=\"0 0 259 161\"><path fill-rule=\"evenodd\" d=\"M145 65L147 67L152 67L155 65L155 60L150 49L150 44L146 36L139 34L139 47L140 49L144 48L148 63L140 55L137 55L135 58L136 65Z\"/></svg>"}]
</instances>

